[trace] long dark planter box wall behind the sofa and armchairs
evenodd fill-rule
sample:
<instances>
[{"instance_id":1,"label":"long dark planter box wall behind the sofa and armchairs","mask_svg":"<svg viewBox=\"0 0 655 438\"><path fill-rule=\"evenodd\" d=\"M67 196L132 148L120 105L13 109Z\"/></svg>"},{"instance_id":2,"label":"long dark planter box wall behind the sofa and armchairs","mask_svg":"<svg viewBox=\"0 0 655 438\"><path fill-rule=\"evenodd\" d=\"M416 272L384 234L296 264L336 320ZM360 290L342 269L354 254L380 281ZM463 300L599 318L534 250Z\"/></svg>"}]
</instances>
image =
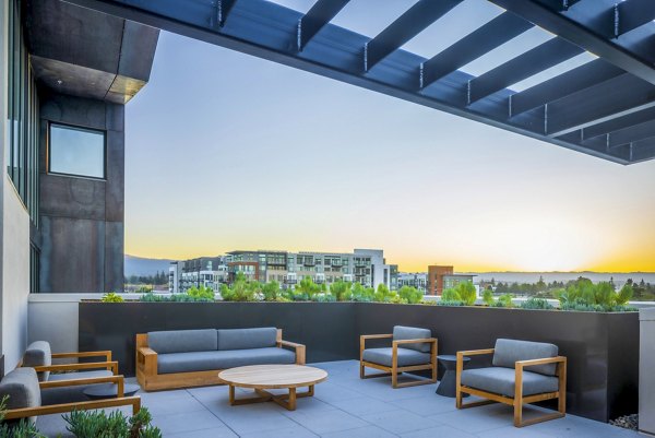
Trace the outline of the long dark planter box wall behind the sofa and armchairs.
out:
<instances>
[{"instance_id":1,"label":"long dark planter box wall behind the sofa and armchairs","mask_svg":"<svg viewBox=\"0 0 655 438\"><path fill-rule=\"evenodd\" d=\"M551 342L568 357L568 412L607 422L638 410L639 315L374 303L80 303L80 350L111 350L134 374L134 338L153 330L275 325L307 345L308 362L358 358L358 338L424 327L440 354L498 338ZM490 358L472 360L486 365Z\"/></svg>"}]
</instances>

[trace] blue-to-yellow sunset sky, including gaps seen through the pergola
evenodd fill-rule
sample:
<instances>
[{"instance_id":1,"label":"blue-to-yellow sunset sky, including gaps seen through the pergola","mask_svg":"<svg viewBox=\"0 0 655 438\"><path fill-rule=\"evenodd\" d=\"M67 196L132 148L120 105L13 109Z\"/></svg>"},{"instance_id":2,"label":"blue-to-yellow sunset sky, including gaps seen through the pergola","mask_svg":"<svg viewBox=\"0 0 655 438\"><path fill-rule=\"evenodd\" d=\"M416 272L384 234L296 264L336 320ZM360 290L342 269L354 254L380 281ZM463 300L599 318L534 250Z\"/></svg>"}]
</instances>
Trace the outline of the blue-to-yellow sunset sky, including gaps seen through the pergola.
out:
<instances>
[{"instance_id":1,"label":"blue-to-yellow sunset sky, including gaps seen through the pergola","mask_svg":"<svg viewBox=\"0 0 655 438\"><path fill-rule=\"evenodd\" d=\"M335 23L374 36L415 2L374 0L371 16L371 1ZM501 12L463 7L406 48L436 55ZM528 31L464 70L549 37ZM133 256L382 248L401 271L655 271L655 161L621 166L164 32L126 108Z\"/></svg>"}]
</instances>

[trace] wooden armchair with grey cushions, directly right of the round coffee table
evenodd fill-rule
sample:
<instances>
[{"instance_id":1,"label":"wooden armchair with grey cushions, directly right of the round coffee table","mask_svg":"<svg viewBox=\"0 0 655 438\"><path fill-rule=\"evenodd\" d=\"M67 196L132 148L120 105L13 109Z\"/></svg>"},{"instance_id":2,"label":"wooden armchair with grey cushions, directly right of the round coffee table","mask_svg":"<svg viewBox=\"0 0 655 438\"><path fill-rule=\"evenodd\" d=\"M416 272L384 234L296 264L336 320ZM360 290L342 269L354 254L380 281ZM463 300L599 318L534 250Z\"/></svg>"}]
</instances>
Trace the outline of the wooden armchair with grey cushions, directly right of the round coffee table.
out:
<instances>
[{"instance_id":1,"label":"wooden armchair with grey cushions, directly right of the round coffee table","mask_svg":"<svg viewBox=\"0 0 655 438\"><path fill-rule=\"evenodd\" d=\"M367 348L366 341L391 339L391 348ZM366 367L384 372L366 375ZM398 383L398 374L430 370L429 380ZM393 333L362 334L359 336L359 378L391 376L393 388L413 387L437 382L437 339L427 329L396 325Z\"/></svg>"}]
</instances>

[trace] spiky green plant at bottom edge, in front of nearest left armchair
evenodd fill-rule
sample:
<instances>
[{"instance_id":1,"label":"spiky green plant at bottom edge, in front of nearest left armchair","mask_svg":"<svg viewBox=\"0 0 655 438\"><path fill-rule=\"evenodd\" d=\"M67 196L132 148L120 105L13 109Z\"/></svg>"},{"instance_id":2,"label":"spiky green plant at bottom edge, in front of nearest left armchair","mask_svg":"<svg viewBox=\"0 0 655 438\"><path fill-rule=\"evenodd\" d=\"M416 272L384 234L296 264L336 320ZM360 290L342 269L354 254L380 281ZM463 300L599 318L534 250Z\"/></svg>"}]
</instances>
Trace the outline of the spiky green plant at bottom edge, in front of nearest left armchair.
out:
<instances>
[{"instance_id":1,"label":"spiky green plant at bottom edge, in front of nearest left armchair","mask_svg":"<svg viewBox=\"0 0 655 438\"><path fill-rule=\"evenodd\" d=\"M162 438L159 428L151 425L146 407L127 418L122 412L73 411L63 415L67 429L78 438Z\"/></svg>"}]
</instances>

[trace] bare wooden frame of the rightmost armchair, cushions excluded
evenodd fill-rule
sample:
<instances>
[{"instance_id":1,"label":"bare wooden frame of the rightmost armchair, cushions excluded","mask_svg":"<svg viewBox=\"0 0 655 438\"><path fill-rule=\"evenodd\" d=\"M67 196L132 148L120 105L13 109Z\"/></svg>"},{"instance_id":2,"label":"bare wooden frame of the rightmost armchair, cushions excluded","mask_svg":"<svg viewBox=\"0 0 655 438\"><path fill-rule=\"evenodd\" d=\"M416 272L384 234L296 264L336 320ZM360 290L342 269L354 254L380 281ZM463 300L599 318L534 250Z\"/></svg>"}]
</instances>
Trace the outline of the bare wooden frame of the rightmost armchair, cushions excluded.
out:
<instances>
[{"instance_id":1,"label":"bare wooden frame of the rightmost armchair, cushions excluded","mask_svg":"<svg viewBox=\"0 0 655 438\"><path fill-rule=\"evenodd\" d=\"M480 406L489 403L504 403L514 406L514 426L523 427L532 424L547 422L549 419L561 418L567 415L567 358L564 356L547 357L543 359L517 360L514 366L514 396L496 394L493 392L483 391L476 388L469 388L462 384L462 371L464 370L464 357L483 354L493 354L496 348L471 350L457 352L456 367L456 406L458 410L466 407ZM556 392L545 392L523 396L523 369L535 365L557 364L556 375L558 377L558 390ZM472 394L487 400L463 403L463 394ZM558 399L558 410L556 413L540 415L527 421L523 419L523 405L541 402L544 400Z\"/></svg>"}]
</instances>

